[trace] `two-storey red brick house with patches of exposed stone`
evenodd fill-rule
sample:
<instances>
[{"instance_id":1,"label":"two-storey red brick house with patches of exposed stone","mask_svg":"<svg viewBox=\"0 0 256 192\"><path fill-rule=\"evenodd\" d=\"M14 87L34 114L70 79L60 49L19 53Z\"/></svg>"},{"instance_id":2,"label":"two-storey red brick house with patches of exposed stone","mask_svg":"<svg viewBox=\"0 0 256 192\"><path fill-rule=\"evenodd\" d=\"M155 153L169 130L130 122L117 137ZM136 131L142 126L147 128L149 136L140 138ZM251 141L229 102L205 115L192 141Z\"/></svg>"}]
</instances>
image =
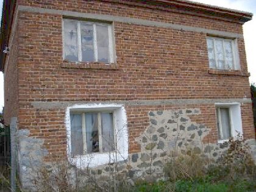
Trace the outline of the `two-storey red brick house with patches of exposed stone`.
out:
<instances>
[{"instance_id":1,"label":"two-storey red brick house with patches of exposed stone","mask_svg":"<svg viewBox=\"0 0 256 192\"><path fill-rule=\"evenodd\" d=\"M218 158L237 132L254 138L242 28L252 13L185 0L3 10L4 120L18 119L25 188L55 160L100 176L109 162L129 162L133 177L151 165L159 177L173 149Z\"/></svg>"}]
</instances>

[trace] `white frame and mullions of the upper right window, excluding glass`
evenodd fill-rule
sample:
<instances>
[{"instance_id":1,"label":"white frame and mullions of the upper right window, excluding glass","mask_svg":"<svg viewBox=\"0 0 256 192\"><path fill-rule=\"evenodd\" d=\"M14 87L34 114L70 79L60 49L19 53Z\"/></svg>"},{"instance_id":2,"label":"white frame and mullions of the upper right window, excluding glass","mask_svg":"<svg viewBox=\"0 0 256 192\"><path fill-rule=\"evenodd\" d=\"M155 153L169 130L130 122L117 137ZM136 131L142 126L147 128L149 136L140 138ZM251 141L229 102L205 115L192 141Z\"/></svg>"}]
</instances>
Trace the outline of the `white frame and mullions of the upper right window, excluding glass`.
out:
<instances>
[{"instance_id":1,"label":"white frame and mullions of the upper right window, excluding glass","mask_svg":"<svg viewBox=\"0 0 256 192\"><path fill-rule=\"evenodd\" d=\"M213 40L213 49L214 49L214 54L215 54L216 68L212 68L212 69L230 70L230 69L227 68L226 51L225 51L225 47L224 47L224 41L227 41L227 42L231 42L231 46L232 46L233 69L231 69L231 70L240 70L240 59L239 59L238 44L237 44L237 39L236 38L232 39L232 38L220 38L220 37L207 36L207 39ZM215 44L216 44L215 41L216 40L222 41L222 46L223 46L223 50L224 50L225 69L221 69L218 66L218 60L216 60L216 58L217 58L216 46L215 46ZM207 50L208 50L208 46L207 46ZM207 54L208 54L208 51L207 51ZM210 61L209 61L209 66L210 66Z\"/></svg>"}]
</instances>

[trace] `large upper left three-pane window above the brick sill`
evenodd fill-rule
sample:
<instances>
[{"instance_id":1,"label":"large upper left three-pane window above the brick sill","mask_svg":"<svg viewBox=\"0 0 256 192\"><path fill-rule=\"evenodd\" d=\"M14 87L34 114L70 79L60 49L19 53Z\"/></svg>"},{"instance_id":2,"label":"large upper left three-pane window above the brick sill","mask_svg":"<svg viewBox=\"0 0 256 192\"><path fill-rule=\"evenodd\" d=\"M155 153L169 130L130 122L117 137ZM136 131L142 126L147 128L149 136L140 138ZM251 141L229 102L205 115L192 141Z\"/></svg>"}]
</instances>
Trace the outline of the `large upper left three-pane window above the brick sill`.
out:
<instances>
[{"instance_id":1,"label":"large upper left three-pane window above the brick sill","mask_svg":"<svg viewBox=\"0 0 256 192\"><path fill-rule=\"evenodd\" d=\"M112 24L63 20L63 59L113 63Z\"/></svg>"}]
</instances>

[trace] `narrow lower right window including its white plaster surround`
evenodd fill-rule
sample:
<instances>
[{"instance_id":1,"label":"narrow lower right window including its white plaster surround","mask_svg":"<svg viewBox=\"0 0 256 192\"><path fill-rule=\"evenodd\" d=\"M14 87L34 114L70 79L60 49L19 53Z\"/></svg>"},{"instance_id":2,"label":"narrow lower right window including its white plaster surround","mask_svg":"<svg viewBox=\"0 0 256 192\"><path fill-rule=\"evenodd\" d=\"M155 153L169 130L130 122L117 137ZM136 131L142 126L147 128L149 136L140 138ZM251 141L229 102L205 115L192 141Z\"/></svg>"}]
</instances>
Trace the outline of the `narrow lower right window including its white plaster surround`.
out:
<instances>
[{"instance_id":1,"label":"narrow lower right window including its white plaster surround","mask_svg":"<svg viewBox=\"0 0 256 192\"><path fill-rule=\"evenodd\" d=\"M216 103L216 120L218 143L235 138L238 133L243 135L240 103Z\"/></svg>"}]
</instances>

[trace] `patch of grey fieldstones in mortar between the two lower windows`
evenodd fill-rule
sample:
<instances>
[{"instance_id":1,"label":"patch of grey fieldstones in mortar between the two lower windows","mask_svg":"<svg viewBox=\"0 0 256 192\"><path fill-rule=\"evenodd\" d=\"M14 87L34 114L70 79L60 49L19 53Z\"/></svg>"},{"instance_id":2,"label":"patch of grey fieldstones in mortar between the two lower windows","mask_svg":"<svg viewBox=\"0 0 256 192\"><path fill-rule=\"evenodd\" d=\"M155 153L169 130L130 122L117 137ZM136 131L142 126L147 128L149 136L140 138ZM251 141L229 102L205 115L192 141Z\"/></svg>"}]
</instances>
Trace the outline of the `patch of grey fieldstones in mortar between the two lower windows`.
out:
<instances>
[{"instance_id":1,"label":"patch of grey fieldstones in mortar between the two lower windows","mask_svg":"<svg viewBox=\"0 0 256 192\"><path fill-rule=\"evenodd\" d=\"M136 139L137 142L142 141L141 155L131 165L140 170L140 178L146 178L149 172L158 178L163 177L163 165L171 158L169 154L204 153L209 158L218 160L228 147L227 144L202 142L210 129L205 124L198 124L190 119L190 115L201 114L199 108L158 110L148 114L149 127Z\"/></svg>"}]
</instances>

